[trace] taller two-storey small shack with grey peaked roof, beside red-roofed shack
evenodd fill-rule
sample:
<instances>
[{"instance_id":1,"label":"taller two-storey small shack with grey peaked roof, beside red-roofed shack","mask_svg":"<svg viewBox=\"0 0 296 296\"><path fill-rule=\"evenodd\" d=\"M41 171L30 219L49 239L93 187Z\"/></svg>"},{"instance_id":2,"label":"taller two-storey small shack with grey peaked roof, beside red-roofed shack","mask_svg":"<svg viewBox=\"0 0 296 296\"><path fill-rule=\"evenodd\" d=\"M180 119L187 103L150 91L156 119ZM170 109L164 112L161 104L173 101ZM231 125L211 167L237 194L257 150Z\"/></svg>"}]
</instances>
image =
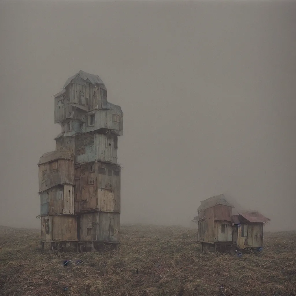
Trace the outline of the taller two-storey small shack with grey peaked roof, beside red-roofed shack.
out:
<instances>
[{"instance_id":1,"label":"taller two-storey small shack with grey peaked roof, beside red-roofed shack","mask_svg":"<svg viewBox=\"0 0 296 296\"><path fill-rule=\"evenodd\" d=\"M223 247L232 244L231 205L223 194L201 202L195 218L198 225L198 241L205 247Z\"/></svg>"}]
</instances>

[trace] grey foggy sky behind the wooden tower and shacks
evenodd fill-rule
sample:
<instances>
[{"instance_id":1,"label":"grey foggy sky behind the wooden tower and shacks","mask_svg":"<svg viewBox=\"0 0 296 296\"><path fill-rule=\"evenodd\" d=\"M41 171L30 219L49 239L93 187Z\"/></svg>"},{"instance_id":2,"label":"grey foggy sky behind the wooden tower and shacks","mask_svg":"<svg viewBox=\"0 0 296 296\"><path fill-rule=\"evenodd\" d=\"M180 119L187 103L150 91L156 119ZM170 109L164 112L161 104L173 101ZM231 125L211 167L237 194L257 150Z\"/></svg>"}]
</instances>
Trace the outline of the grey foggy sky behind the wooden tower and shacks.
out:
<instances>
[{"instance_id":1,"label":"grey foggy sky behind the wooden tower and shacks","mask_svg":"<svg viewBox=\"0 0 296 296\"><path fill-rule=\"evenodd\" d=\"M0 4L0 224L40 227L54 94L99 75L124 112L121 222L188 226L223 193L296 229L295 2Z\"/></svg>"}]
</instances>

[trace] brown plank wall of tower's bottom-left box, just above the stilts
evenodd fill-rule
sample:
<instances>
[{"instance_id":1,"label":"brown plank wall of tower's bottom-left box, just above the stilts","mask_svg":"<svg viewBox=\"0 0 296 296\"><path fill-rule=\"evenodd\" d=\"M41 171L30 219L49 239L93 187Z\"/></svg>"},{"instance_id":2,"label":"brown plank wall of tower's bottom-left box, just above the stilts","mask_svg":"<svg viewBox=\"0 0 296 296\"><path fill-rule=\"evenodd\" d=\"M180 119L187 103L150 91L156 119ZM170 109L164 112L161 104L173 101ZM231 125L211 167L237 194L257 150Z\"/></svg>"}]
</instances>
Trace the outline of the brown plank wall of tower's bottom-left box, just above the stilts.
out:
<instances>
[{"instance_id":1,"label":"brown plank wall of tower's bottom-left box, just above the stilts","mask_svg":"<svg viewBox=\"0 0 296 296\"><path fill-rule=\"evenodd\" d=\"M53 215L41 217L41 240L76 241L77 217L70 215Z\"/></svg>"}]
</instances>

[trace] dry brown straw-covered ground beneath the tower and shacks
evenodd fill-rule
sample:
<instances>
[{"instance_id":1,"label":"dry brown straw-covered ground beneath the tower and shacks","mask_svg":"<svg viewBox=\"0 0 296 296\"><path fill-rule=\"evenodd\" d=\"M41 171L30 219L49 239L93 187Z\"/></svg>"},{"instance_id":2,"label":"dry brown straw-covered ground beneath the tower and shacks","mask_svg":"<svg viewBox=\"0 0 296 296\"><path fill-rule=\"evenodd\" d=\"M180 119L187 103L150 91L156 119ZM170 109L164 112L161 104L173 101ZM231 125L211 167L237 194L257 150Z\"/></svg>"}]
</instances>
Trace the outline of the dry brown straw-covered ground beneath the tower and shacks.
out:
<instances>
[{"instance_id":1,"label":"dry brown straw-covered ground beneath the tower and shacks","mask_svg":"<svg viewBox=\"0 0 296 296\"><path fill-rule=\"evenodd\" d=\"M202 253L186 228L121 235L118 250L41 254L38 231L0 227L0 295L296 295L295 232L265 234L263 254L242 258ZM76 258L84 262L62 265Z\"/></svg>"}]
</instances>

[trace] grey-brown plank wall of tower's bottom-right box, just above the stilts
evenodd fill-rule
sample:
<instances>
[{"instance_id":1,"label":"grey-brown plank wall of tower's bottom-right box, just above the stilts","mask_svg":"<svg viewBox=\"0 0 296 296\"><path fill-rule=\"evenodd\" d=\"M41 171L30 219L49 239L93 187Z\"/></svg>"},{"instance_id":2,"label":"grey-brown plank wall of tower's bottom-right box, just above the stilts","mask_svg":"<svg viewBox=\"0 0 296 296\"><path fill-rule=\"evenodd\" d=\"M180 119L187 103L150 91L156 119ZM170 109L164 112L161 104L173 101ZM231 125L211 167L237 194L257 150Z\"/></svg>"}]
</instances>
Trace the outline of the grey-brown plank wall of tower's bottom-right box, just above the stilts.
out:
<instances>
[{"instance_id":1,"label":"grey-brown plank wall of tower's bottom-right box, just above the stilts","mask_svg":"<svg viewBox=\"0 0 296 296\"><path fill-rule=\"evenodd\" d=\"M92 242L120 240L119 213L85 213L79 216L79 239Z\"/></svg>"}]
</instances>

